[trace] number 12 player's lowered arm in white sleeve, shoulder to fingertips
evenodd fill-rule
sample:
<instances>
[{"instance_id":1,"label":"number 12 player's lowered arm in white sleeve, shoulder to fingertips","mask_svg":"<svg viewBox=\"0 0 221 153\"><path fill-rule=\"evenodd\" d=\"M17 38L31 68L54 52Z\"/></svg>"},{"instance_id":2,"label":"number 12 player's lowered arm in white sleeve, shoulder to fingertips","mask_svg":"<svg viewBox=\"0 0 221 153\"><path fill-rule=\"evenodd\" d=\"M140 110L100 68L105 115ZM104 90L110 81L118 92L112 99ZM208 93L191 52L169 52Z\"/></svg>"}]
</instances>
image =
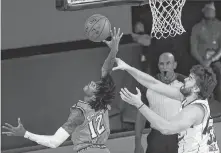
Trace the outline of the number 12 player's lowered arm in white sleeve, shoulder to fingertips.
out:
<instances>
[{"instance_id":1,"label":"number 12 player's lowered arm in white sleeve, shoulder to fingertips","mask_svg":"<svg viewBox=\"0 0 221 153\"><path fill-rule=\"evenodd\" d=\"M6 134L7 136L21 136L31 141L34 141L40 145L49 148L57 148L65 140L67 140L67 138L76 129L76 127L81 125L83 122L83 112L80 109L76 108L72 109L67 122L62 127L60 127L54 135L38 135L27 131L21 123L20 118L18 119L17 127L5 123L5 125L2 126L2 128L6 129L7 132L2 132L2 134Z\"/></svg>"}]
</instances>

